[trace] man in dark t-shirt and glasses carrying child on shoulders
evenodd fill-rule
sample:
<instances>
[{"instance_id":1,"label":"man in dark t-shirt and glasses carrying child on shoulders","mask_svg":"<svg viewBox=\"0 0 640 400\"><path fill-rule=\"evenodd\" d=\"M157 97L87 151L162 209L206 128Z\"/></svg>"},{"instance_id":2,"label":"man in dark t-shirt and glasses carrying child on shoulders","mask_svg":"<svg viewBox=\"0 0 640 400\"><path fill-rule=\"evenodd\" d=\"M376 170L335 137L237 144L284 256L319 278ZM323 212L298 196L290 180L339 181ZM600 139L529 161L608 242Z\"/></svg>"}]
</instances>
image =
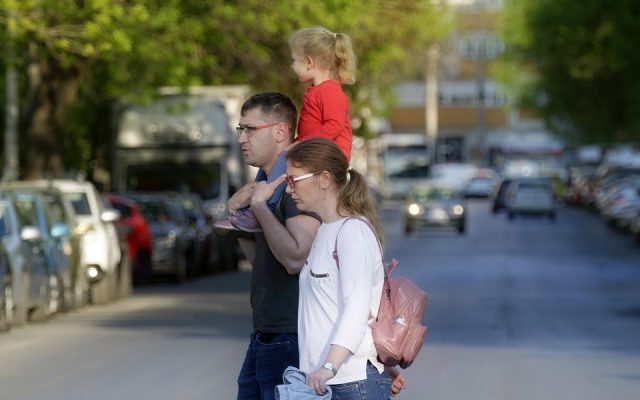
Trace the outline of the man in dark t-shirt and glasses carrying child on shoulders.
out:
<instances>
[{"instance_id":1,"label":"man in dark t-shirt and glasses carrying child on shoulders","mask_svg":"<svg viewBox=\"0 0 640 400\"><path fill-rule=\"evenodd\" d=\"M261 93L242 106L238 141L245 162L270 175L278 155L293 142L296 107L281 93ZM320 226L317 217L300 213L283 193L272 210L267 201L281 176L271 183L251 183L228 201L230 213L250 206L262 232L239 244L253 265L253 333L238 376L238 399L274 399L287 366L298 366L298 272Z\"/></svg>"}]
</instances>

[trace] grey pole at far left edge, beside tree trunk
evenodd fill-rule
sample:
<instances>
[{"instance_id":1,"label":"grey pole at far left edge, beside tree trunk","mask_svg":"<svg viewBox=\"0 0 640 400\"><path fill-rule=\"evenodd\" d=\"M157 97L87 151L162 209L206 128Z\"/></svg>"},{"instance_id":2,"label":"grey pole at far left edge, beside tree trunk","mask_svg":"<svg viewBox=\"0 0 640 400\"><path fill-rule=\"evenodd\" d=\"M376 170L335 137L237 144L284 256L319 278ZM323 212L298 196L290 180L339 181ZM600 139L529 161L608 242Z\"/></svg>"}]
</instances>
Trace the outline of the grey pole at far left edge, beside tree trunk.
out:
<instances>
[{"instance_id":1,"label":"grey pole at far left edge, beside tree trunk","mask_svg":"<svg viewBox=\"0 0 640 400\"><path fill-rule=\"evenodd\" d=\"M8 54L6 71L6 110L4 132L4 173L2 181L18 178L18 74L16 72L15 51L15 11L9 11L7 23Z\"/></svg>"}]
</instances>

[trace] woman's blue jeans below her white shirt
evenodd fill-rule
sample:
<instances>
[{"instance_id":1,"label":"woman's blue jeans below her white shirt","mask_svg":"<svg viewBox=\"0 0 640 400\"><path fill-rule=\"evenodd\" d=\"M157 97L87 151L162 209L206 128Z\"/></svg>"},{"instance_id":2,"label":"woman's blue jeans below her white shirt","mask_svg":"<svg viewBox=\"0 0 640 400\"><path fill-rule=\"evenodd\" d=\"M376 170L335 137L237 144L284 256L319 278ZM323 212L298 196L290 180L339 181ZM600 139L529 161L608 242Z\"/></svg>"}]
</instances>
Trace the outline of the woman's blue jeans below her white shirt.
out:
<instances>
[{"instance_id":1,"label":"woman's blue jeans below her white shirt","mask_svg":"<svg viewBox=\"0 0 640 400\"><path fill-rule=\"evenodd\" d=\"M391 398L391 378L386 371L379 373L367 363L367 379L331 385L331 400L388 400Z\"/></svg>"}]
</instances>

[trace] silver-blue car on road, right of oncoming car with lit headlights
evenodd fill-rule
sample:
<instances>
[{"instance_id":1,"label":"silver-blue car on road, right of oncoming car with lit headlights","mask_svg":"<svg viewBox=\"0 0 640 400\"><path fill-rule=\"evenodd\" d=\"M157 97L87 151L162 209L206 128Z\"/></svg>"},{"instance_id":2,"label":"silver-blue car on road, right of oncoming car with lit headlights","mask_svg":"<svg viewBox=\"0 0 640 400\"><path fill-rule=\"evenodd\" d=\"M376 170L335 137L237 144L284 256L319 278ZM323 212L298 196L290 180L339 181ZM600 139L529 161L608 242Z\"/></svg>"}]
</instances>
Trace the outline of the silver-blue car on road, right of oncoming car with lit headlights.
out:
<instances>
[{"instance_id":1,"label":"silver-blue car on road, right of oncoming car with lit headlights","mask_svg":"<svg viewBox=\"0 0 640 400\"><path fill-rule=\"evenodd\" d=\"M549 178L518 178L507 192L507 215L513 220L516 214L546 215L556 219L557 203L553 183Z\"/></svg>"}]
</instances>

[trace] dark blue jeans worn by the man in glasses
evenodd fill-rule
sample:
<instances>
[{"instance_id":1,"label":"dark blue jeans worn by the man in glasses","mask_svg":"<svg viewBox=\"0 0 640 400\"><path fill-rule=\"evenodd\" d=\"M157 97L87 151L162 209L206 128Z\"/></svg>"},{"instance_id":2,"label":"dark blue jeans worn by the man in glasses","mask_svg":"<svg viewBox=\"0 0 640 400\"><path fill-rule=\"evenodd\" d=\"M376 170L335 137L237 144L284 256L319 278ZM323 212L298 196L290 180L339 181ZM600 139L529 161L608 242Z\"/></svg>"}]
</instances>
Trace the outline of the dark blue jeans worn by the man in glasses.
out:
<instances>
[{"instance_id":1,"label":"dark blue jeans worn by the man in glasses","mask_svg":"<svg viewBox=\"0 0 640 400\"><path fill-rule=\"evenodd\" d=\"M298 367L298 335L253 333L238 376L238 400L275 400L288 366Z\"/></svg>"}]
</instances>

